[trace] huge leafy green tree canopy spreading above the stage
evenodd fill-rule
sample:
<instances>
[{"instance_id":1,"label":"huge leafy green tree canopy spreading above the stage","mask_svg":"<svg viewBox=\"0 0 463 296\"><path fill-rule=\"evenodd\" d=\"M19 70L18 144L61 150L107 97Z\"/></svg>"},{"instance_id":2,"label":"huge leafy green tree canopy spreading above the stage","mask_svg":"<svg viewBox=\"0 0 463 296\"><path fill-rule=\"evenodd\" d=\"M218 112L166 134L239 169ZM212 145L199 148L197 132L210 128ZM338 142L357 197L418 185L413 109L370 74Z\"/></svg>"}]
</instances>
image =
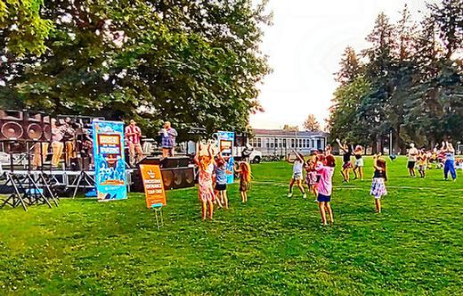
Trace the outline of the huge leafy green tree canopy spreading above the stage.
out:
<instances>
[{"instance_id":1,"label":"huge leafy green tree canopy spreading above the stage","mask_svg":"<svg viewBox=\"0 0 463 296\"><path fill-rule=\"evenodd\" d=\"M50 51L11 63L8 94L17 108L134 118L151 136L164 119L181 138L189 127L242 131L270 70L259 51L264 5L46 0Z\"/></svg>"}]
</instances>

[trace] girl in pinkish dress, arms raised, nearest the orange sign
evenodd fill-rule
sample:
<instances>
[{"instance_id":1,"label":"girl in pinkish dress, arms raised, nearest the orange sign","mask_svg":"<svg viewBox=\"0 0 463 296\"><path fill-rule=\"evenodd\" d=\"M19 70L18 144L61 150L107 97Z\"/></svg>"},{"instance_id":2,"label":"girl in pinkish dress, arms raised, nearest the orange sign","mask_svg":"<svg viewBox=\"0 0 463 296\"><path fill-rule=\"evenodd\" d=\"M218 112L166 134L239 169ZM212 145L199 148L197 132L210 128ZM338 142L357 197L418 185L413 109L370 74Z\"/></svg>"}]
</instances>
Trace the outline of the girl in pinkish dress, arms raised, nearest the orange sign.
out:
<instances>
[{"instance_id":1,"label":"girl in pinkish dress, arms raised, nearest the orange sign","mask_svg":"<svg viewBox=\"0 0 463 296\"><path fill-rule=\"evenodd\" d=\"M198 197L202 204L202 218L206 220L207 207L209 208L209 218L212 220L214 214L214 188L212 185L212 174L214 171L214 157L211 145L207 146L208 155L199 155L200 144L197 145L194 162L199 169L198 177Z\"/></svg>"}]
</instances>

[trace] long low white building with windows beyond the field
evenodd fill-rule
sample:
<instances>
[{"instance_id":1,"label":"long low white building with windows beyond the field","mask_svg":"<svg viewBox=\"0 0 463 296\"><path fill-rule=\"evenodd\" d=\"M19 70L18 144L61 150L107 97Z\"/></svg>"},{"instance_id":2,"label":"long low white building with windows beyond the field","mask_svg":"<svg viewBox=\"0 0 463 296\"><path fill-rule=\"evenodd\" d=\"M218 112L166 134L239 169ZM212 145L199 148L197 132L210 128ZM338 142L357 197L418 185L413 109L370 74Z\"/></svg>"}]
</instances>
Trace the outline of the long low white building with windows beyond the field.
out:
<instances>
[{"instance_id":1,"label":"long low white building with windows beyond the field","mask_svg":"<svg viewBox=\"0 0 463 296\"><path fill-rule=\"evenodd\" d=\"M254 137L249 139L249 144L263 155L286 155L293 150L310 154L313 150L325 149L328 136L321 131L284 129L254 129L253 133Z\"/></svg>"}]
</instances>

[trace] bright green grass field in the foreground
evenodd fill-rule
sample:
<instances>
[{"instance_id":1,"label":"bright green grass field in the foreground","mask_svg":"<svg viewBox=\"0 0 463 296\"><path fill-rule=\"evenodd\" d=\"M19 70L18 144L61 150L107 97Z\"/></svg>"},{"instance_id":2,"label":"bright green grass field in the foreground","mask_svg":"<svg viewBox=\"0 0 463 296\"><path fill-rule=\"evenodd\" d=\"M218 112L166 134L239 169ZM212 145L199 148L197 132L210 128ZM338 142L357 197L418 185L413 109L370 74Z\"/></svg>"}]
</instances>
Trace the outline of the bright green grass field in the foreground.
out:
<instances>
[{"instance_id":1,"label":"bright green grass field in the foreground","mask_svg":"<svg viewBox=\"0 0 463 296\"><path fill-rule=\"evenodd\" d=\"M372 160L365 181L344 185L338 159L333 227L320 226L312 197L286 197L284 162L254 165L248 203L231 185L231 210L212 222L195 188L168 193L160 230L139 193L4 208L0 294L463 294L463 174L411 179L405 161L388 161L375 214Z\"/></svg>"}]
</instances>

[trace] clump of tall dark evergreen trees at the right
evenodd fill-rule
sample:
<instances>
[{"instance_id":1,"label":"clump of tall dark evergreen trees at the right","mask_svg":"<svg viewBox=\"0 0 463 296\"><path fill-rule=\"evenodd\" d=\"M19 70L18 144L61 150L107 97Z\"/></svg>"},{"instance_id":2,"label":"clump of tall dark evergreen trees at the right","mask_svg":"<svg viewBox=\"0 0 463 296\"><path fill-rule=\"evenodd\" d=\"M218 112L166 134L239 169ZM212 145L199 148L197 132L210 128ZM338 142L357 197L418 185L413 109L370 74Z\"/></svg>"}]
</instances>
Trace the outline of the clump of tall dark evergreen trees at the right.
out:
<instances>
[{"instance_id":1,"label":"clump of tall dark evergreen trees at the right","mask_svg":"<svg viewBox=\"0 0 463 296\"><path fill-rule=\"evenodd\" d=\"M391 23L375 21L370 46L347 47L330 109L333 138L346 136L380 150L393 134L394 150L463 137L463 1L428 4L422 21L405 5ZM378 147L377 147L378 145Z\"/></svg>"}]
</instances>

